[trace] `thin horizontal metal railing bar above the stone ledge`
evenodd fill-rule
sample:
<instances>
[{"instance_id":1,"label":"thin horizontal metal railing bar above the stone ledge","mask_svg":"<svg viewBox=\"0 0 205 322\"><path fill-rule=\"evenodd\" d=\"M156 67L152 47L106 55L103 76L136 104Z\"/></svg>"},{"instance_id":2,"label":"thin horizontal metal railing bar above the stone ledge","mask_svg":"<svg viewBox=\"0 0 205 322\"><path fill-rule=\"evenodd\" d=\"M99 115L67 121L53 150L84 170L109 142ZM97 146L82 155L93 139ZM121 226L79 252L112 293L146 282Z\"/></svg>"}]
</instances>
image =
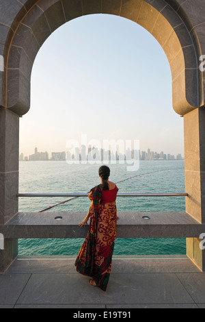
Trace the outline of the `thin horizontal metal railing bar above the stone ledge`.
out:
<instances>
[{"instance_id":1,"label":"thin horizontal metal railing bar above the stone ledge","mask_svg":"<svg viewBox=\"0 0 205 322\"><path fill-rule=\"evenodd\" d=\"M18 193L16 197L87 197L88 193ZM187 197L188 193L118 193L118 197Z\"/></svg>"}]
</instances>

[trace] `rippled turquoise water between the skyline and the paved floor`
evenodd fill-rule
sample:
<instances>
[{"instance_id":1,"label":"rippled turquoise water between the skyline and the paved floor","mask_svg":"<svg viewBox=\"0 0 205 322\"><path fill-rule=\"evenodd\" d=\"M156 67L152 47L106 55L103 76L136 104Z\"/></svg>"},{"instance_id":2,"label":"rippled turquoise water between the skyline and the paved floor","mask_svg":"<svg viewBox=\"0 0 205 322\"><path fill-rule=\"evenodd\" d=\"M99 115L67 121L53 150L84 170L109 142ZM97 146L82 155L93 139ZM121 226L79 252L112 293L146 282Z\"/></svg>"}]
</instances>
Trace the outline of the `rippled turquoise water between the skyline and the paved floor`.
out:
<instances>
[{"instance_id":1,"label":"rippled turquoise water between the skyline and the paved floor","mask_svg":"<svg viewBox=\"0 0 205 322\"><path fill-rule=\"evenodd\" d=\"M110 180L119 182L119 193L184 192L184 160L141 161L137 172L126 171L126 164L108 164ZM20 193L87 193L100 183L98 164L67 164L66 161L20 162ZM166 170L166 171L161 171ZM152 171L160 171L141 175ZM67 198L19 198L19 211L38 212ZM90 201L81 197L48 210L48 212L86 212ZM118 197L118 212L184 211L184 197ZM45 214L46 212L44 212ZM83 219L83 218L82 218ZM81 238L19 239L19 255L77 255ZM185 254L185 238L117 238L113 255Z\"/></svg>"}]
</instances>

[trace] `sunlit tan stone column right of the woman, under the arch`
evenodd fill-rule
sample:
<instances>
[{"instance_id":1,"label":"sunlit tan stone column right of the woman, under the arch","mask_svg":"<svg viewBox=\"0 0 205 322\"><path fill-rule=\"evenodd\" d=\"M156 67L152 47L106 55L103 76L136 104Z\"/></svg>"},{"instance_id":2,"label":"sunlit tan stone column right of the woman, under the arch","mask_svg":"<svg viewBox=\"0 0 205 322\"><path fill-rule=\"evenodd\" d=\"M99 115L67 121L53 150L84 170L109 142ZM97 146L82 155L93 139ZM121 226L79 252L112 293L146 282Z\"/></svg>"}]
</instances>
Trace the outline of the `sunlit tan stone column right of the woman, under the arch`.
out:
<instances>
[{"instance_id":1,"label":"sunlit tan stone column right of the woman, under the arch","mask_svg":"<svg viewBox=\"0 0 205 322\"><path fill-rule=\"evenodd\" d=\"M205 108L184 115L184 166L185 191L189 194L186 211L205 223ZM200 249L200 241L187 238L187 256L205 271L205 250Z\"/></svg>"}]
</instances>

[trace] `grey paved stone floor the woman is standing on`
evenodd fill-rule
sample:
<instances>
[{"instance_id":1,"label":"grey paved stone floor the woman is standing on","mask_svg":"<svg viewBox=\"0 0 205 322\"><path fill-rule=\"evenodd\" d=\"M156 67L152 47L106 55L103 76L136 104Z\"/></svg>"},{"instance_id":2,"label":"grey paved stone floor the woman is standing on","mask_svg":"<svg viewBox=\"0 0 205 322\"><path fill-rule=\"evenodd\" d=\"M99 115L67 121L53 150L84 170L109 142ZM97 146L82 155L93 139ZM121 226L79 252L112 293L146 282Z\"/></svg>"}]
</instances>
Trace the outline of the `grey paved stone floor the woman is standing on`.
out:
<instances>
[{"instance_id":1,"label":"grey paved stone floor the woman is standing on","mask_svg":"<svg viewBox=\"0 0 205 322\"><path fill-rule=\"evenodd\" d=\"M70 257L18 257L0 274L0 308L205 308L205 274L186 256L113 258L107 291Z\"/></svg>"}]
</instances>

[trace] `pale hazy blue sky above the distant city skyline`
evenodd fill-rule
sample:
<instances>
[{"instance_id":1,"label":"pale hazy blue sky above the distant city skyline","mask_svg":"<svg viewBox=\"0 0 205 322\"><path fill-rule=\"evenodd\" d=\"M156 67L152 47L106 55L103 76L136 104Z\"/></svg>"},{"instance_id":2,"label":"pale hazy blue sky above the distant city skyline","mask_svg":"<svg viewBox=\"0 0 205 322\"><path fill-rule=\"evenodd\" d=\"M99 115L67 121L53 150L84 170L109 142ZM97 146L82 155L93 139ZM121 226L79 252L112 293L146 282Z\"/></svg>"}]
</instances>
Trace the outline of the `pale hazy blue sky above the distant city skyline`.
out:
<instances>
[{"instance_id":1,"label":"pale hazy blue sky above the distant city skyline","mask_svg":"<svg viewBox=\"0 0 205 322\"><path fill-rule=\"evenodd\" d=\"M66 151L69 140L139 140L141 151L184 156L183 119L156 39L133 21L92 14L59 27L31 73L31 107L20 118L20 153Z\"/></svg>"}]
</instances>

